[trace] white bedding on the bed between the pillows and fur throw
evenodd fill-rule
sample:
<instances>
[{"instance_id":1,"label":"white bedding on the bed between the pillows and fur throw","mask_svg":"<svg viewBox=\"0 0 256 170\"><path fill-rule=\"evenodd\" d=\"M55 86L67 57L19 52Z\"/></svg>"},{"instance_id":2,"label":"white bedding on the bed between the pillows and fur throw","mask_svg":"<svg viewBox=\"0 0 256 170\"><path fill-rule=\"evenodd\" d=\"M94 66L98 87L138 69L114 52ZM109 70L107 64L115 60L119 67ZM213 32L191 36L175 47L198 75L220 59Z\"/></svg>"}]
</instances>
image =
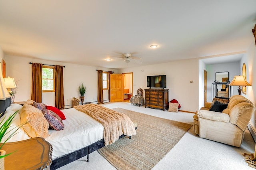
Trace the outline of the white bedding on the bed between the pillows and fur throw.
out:
<instances>
[{"instance_id":1,"label":"white bedding on the bed between the pillows and fur throw","mask_svg":"<svg viewBox=\"0 0 256 170\"><path fill-rule=\"evenodd\" d=\"M52 144L52 159L84 148L103 139L104 127L92 117L74 108L63 109L64 130L49 129L46 141Z\"/></svg>"}]
</instances>

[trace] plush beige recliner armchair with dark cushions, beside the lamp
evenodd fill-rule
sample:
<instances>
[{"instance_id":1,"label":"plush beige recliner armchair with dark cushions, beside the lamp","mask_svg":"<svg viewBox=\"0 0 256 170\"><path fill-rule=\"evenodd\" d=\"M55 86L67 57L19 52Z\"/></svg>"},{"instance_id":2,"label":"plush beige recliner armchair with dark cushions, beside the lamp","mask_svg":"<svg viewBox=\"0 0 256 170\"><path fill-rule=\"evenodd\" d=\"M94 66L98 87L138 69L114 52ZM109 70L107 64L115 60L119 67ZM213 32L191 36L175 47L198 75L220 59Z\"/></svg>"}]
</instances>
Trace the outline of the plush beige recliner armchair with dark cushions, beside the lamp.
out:
<instances>
[{"instance_id":1,"label":"plush beige recliner armchair with dark cushions, beside the lamp","mask_svg":"<svg viewBox=\"0 0 256 170\"><path fill-rule=\"evenodd\" d=\"M221 100L223 102L224 99ZM211 106L206 103L205 107L196 111L194 132L200 138L240 147L245 129L255 111L253 103L241 95L234 95L221 113L210 111Z\"/></svg>"}]
</instances>

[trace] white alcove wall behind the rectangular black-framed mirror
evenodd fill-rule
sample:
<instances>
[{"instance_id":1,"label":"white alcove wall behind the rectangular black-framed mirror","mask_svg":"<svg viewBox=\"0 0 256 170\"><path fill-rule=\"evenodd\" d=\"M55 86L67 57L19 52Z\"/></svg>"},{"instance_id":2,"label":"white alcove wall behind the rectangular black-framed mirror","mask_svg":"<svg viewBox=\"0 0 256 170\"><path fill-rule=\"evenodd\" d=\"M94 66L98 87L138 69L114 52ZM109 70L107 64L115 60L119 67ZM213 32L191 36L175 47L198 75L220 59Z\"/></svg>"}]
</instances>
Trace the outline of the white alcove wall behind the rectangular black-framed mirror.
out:
<instances>
[{"instance_id":1,"label":"white alcove wall behind the rectangular black-framed mirror","mask_svg":"<svg viewBox=\"0 0 256 170\"><path fill-rule=\"evenodd\" d=\"M206 71L207 71L206 101L212 102L212 83L214 83L216 79L216 72L228 71L229 80L232 81L235 75L240 75L240 62L206 65ZM233 86L231 89L233 89L233 95L238 95L237 86Z\"/></svg>"}]
</instances>

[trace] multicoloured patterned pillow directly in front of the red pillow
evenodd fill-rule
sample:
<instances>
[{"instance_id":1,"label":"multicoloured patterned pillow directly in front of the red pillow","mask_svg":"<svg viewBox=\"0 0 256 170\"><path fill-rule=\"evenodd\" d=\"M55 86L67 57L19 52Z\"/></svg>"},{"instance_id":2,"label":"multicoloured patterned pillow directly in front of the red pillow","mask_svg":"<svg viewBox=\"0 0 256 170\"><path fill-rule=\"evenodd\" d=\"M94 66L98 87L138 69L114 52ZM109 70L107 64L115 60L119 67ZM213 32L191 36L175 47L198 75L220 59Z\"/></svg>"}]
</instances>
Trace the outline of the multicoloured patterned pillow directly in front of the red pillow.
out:
<instances>
[{"instance_id":1,"label":"multicoloured patterned pillow directly in front of the red pillow","mask_svg":"<svg viewBox=\"0 0 256 170\"><path fill-rule=\"evenodd\" d=\"M48 109L44 109L42 112L44 114L45 119L48 121L50 128L52 128L53 130L64 129L64 124L61 118L56 113Z\"/></svg>"}]
</instances>

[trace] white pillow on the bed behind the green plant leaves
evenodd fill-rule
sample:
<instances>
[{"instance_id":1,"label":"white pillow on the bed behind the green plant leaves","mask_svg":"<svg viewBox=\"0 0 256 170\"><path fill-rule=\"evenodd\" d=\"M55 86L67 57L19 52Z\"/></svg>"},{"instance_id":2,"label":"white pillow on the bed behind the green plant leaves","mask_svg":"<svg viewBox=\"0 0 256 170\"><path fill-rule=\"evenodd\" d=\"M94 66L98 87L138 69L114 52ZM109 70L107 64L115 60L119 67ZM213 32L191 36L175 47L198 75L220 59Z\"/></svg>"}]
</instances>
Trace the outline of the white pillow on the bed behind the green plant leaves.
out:
<instances>
[{"instance_id":1,"label":"white pillow on the bed behind the green plant leaves","mask_svg":"<svg viewBox=\"0 0 256 170\"><path fill-rule=\"evenodd\" d=\"M0 123L2 122L2 120L4 120L3 121L3 123L4 123L10 117L10 115L12 115L14 113L15 113L15 111L12 111L11 108L6 109L6 111L4 112L4 115L0 118ZM5 135L3 136L1 142L4 142L18 127L20 127L20 124L21 124L20 115L16 114L14 119L13 119L12 125L7 129L7 131L6 131ZM2 124L0 126L2 126ZM29 139L29 138L30 137L25 132L23 127L20 127L15 132L15 135L12 136L7 142L17 142L17 141L26 140L26 139Z\"/></svg>"}]
</instances>

